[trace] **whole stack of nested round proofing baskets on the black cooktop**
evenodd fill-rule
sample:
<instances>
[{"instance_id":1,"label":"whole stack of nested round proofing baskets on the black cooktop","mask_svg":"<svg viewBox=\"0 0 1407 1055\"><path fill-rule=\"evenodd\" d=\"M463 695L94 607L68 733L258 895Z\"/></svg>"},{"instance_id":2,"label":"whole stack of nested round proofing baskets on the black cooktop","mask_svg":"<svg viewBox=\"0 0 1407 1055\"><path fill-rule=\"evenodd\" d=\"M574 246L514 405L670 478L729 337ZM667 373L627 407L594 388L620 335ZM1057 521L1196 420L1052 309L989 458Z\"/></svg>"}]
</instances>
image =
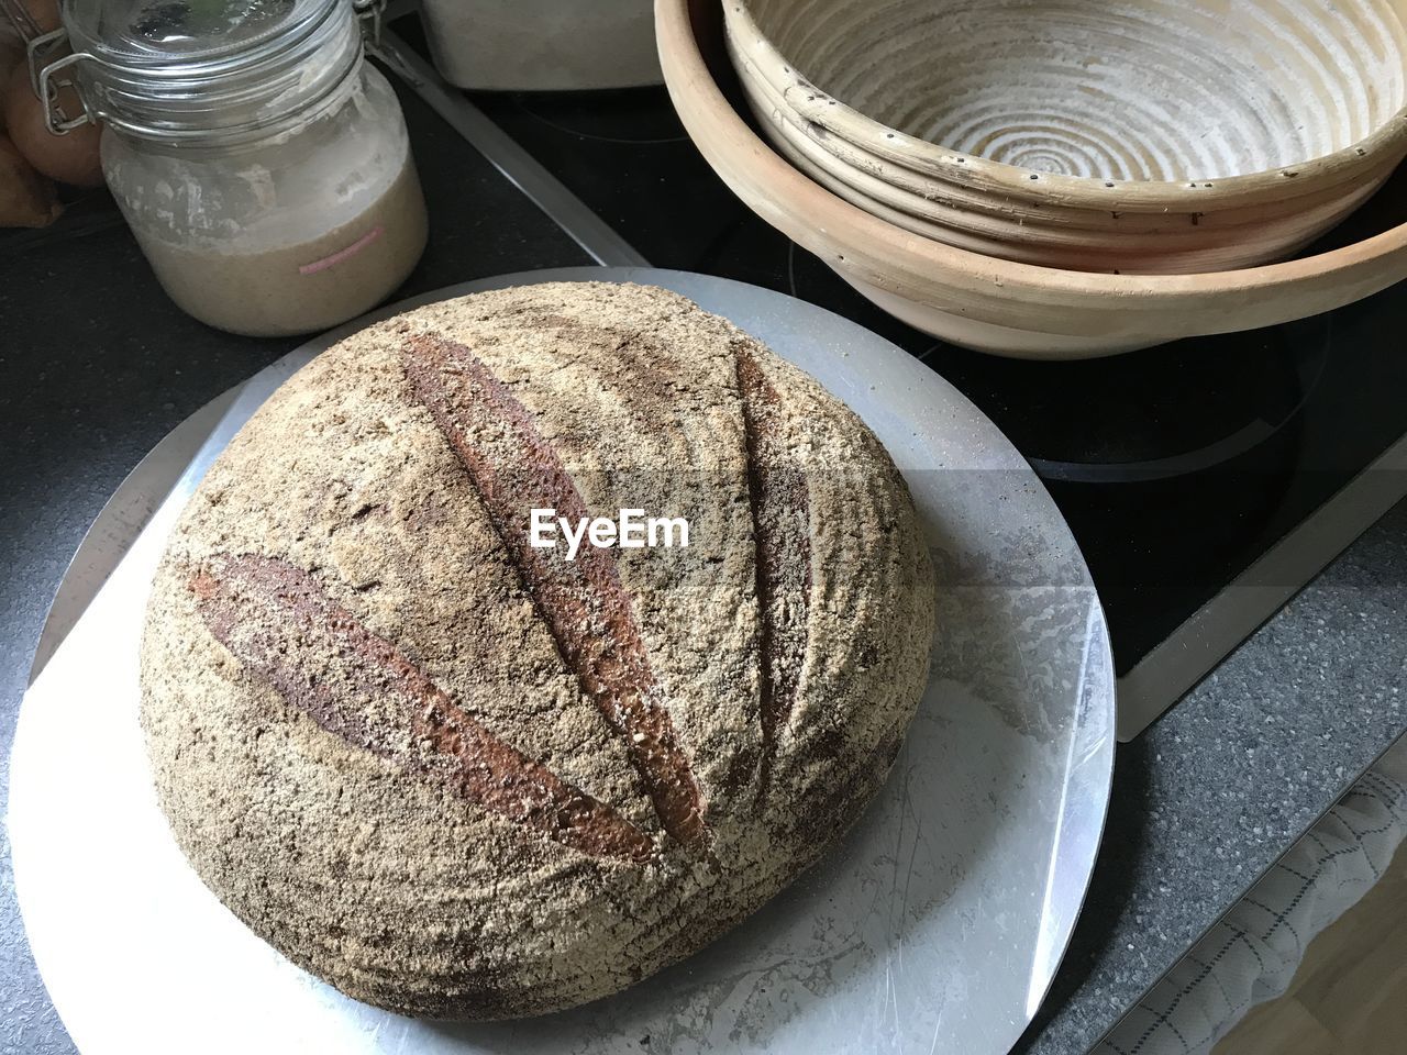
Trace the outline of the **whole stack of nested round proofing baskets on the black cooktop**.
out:
<instances>
[{"instance_id":1,"label":"whole stack of nested round proofing baskets on the black cooktop","mask_svg":"<svg viewBox=\"0 0 1407 1055\"><path fill-rule=\"evenodd\" d=\"M658 0L657 15L675 106L725 180L957 343L1110 353L1407 274L1403 231L1266 264L1407 153L1407 0ZM746 145L719 91L719 17L775 155Z\"/></svg>"}]
</instances>

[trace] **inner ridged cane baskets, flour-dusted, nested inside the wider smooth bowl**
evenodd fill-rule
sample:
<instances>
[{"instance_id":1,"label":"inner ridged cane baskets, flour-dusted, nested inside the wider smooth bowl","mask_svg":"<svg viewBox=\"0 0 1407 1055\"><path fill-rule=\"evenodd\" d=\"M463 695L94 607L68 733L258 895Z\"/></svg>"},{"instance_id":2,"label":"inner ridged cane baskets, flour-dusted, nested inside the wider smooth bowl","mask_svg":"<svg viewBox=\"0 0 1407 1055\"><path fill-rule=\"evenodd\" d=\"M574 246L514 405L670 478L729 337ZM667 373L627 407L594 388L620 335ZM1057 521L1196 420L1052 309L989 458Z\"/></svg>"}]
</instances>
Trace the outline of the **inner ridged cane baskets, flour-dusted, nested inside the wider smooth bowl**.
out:
<instances>
[{"instance_id":1,"label":"inner ridged cane baskets, flour-dusted, nested inside the wider smooth bowl","mask_svg":"<svg viewBox=\"0 0 1407 1055\"><path fill-rule=\"evenodd\" d=\"M749 1L725 8L730 53L778 149L1007 260L1263 263L1407 151L1407 30L1384 0Z\"/></svg>"}]
</instances>

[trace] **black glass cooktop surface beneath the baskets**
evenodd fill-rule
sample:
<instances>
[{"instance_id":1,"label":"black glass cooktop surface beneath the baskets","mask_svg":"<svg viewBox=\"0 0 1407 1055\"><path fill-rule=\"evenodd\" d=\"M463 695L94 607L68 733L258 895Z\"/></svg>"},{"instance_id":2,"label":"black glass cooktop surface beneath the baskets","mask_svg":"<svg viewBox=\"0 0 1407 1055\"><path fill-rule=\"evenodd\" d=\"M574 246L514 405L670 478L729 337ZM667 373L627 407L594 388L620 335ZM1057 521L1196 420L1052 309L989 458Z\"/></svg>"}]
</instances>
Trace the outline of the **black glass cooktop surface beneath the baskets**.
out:
<instances>
[{"instance_id":1,"label":"black glass cooktop surface beneath the baskets","mask_svg":"<svg viewBox=\"0 0 1407 1055\"><path fill-rule=\"evenodd\" d=\"M758 219L699 156L664 89L473 101L651 264L827 307L965 392L1069 520L1121 675L1407 433L1407 284L1301 322L1126 356L999 359L885 315ZM1407 167L1307 252L1404 221Z\"/></svg>"}]
</instances>

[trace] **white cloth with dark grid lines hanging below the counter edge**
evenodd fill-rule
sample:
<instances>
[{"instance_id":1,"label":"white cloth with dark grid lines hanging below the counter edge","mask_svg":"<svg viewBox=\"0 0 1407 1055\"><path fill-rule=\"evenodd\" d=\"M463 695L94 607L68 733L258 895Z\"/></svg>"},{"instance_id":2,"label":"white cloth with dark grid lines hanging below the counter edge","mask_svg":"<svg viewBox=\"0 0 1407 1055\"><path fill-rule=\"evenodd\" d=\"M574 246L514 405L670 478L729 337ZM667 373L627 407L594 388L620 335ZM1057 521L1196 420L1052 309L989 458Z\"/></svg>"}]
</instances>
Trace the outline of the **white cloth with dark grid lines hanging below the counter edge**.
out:
<instances>
[{"instance_id":1,"label":"white cloth with dark grid lines hanging below the counter edge","mask_svg":"<svg viewBox=\"0 0 1407 1055\"><path fill-rule=\"evenodd\" d=\"M1407 838L1407 741L1290 847L1096 1048L1206 1055L1286 990L1310 940L1377 882Z\"/></svg>"}]
</instances>

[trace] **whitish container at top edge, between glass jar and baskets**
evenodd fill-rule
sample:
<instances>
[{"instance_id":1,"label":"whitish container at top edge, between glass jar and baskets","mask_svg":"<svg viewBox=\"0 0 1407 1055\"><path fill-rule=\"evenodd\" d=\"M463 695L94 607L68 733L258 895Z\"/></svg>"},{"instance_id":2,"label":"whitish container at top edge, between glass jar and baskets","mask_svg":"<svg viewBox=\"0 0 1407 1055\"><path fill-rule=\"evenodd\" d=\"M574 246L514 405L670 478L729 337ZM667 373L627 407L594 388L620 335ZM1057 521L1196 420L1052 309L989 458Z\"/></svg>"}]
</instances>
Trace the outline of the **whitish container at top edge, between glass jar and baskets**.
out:
<instances>
[{"instance_id":1,"label":"whitish container at top edge, between glass jar and baskets","mask_svg":"<svg viewBox=\"0 0 1407 1055\"><path fill-rule=\"evenodd\" d=\"M651 0L424 0L431 53L461 89L658 84Z\"/></svg>"}]
</instances>

